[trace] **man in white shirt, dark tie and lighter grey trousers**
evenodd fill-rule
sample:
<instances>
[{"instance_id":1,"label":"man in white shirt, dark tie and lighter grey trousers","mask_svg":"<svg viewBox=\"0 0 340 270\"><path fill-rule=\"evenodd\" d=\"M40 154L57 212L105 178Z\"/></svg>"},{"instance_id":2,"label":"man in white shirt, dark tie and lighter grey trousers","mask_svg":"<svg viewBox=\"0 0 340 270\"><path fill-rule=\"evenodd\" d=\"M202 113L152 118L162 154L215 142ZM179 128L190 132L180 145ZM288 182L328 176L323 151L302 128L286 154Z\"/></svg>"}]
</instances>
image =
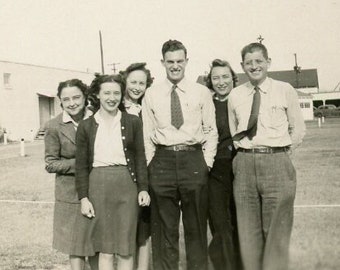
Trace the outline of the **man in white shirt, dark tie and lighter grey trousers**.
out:
<instances>
[{"instance_id":1,"label":"man in white shirt, dark tie and lighter grey trousers","mask_svg":"<svg viewBox=\"0 0 340 270\"><path fill-rule=\"evenodd\" d=\"M249 82L229 94L234 196L245 270L287 270L296 173L290 154L305 134L296 90L267 77L266 47L241 52Z\"/></svg>"}]
</instances>

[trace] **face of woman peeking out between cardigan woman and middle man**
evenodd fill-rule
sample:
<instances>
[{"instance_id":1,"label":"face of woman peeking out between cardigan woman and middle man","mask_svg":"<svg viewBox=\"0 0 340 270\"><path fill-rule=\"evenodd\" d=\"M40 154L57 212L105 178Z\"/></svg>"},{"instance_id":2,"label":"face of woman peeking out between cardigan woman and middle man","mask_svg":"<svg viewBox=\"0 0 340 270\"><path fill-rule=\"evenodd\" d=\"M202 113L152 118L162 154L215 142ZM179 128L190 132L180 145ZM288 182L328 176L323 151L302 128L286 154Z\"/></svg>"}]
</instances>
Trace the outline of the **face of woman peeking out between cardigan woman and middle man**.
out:
<instances>
[{"instance_id":1,"label":"face of woman peeking out between cardigan woman and middle man","mask_svg":"<svg viewBox=\"0 0 340 270\"><path fill-rule=\"evenodd\" d=\"M147 76L142 70L135 70L129 73L126 78L126 98L137 102L146 90Z\"/></svg>"}]
</instances>

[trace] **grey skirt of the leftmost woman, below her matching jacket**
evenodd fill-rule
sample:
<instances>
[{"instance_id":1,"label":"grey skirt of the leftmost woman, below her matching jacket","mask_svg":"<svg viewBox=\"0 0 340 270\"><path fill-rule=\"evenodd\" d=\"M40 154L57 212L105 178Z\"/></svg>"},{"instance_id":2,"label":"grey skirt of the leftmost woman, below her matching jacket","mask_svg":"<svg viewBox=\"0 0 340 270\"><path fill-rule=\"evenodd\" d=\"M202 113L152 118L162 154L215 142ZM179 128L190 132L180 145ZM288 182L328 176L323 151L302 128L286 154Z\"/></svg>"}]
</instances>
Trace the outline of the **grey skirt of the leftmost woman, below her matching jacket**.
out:
<instances>
[{"instance_id":1,"label":"grey skirt of the leftmost woman, below her matching jacket","mask_svg":"<svg viewBox=\"0 0 340 270\"><path fill-rule=\"evenodd\" d=\"M53 248L74 256L90 256L88 239L90 220L80 212L79 203L56 201L53 218Z\"/></svg>"}]
</instances>

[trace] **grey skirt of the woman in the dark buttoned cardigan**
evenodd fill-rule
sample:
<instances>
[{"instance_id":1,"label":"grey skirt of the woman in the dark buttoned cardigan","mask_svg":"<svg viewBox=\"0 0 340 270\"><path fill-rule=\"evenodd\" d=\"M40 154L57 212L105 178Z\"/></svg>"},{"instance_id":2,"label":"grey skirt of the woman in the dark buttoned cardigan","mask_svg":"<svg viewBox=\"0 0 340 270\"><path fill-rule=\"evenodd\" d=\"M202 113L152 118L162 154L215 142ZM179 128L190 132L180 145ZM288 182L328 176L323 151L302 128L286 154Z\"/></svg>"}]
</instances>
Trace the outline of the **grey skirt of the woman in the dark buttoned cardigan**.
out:
<instances>
[{"instance_id":1,"label":"grey skirt of the woman in the dark buttoned cardigan","mask_svg":"<svg viewBox=\"0 0 340 270\"><path fill-rule=\"evenodd\" d=\"M133 255L136 249L138 218L137 185L125 166L93 168L89 200L95 217L91 219L90 241L95 252Z\"/></svg>"}]
</instances>

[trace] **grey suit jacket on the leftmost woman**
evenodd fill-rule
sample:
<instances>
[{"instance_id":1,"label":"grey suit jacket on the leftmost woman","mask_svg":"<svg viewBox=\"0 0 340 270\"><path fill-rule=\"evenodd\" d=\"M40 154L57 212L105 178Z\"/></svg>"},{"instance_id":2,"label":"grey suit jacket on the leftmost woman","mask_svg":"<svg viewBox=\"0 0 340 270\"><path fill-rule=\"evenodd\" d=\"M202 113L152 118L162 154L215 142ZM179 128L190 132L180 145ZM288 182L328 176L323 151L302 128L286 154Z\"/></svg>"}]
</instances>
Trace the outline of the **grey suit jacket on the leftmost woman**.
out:
<instances>
[{"instance_id":1,"label":"grey suit jacket on the leftmost woman","mask_svg":"<svg viewBox=\"0 0 340 270\"><path fill-rule=\"evenodd\" d=\"M56 174L55 199L79 203L75 186L76 131L71 122L63 122L63 114L46 124L45 168Z\"/></svg>"}]
</instances>

